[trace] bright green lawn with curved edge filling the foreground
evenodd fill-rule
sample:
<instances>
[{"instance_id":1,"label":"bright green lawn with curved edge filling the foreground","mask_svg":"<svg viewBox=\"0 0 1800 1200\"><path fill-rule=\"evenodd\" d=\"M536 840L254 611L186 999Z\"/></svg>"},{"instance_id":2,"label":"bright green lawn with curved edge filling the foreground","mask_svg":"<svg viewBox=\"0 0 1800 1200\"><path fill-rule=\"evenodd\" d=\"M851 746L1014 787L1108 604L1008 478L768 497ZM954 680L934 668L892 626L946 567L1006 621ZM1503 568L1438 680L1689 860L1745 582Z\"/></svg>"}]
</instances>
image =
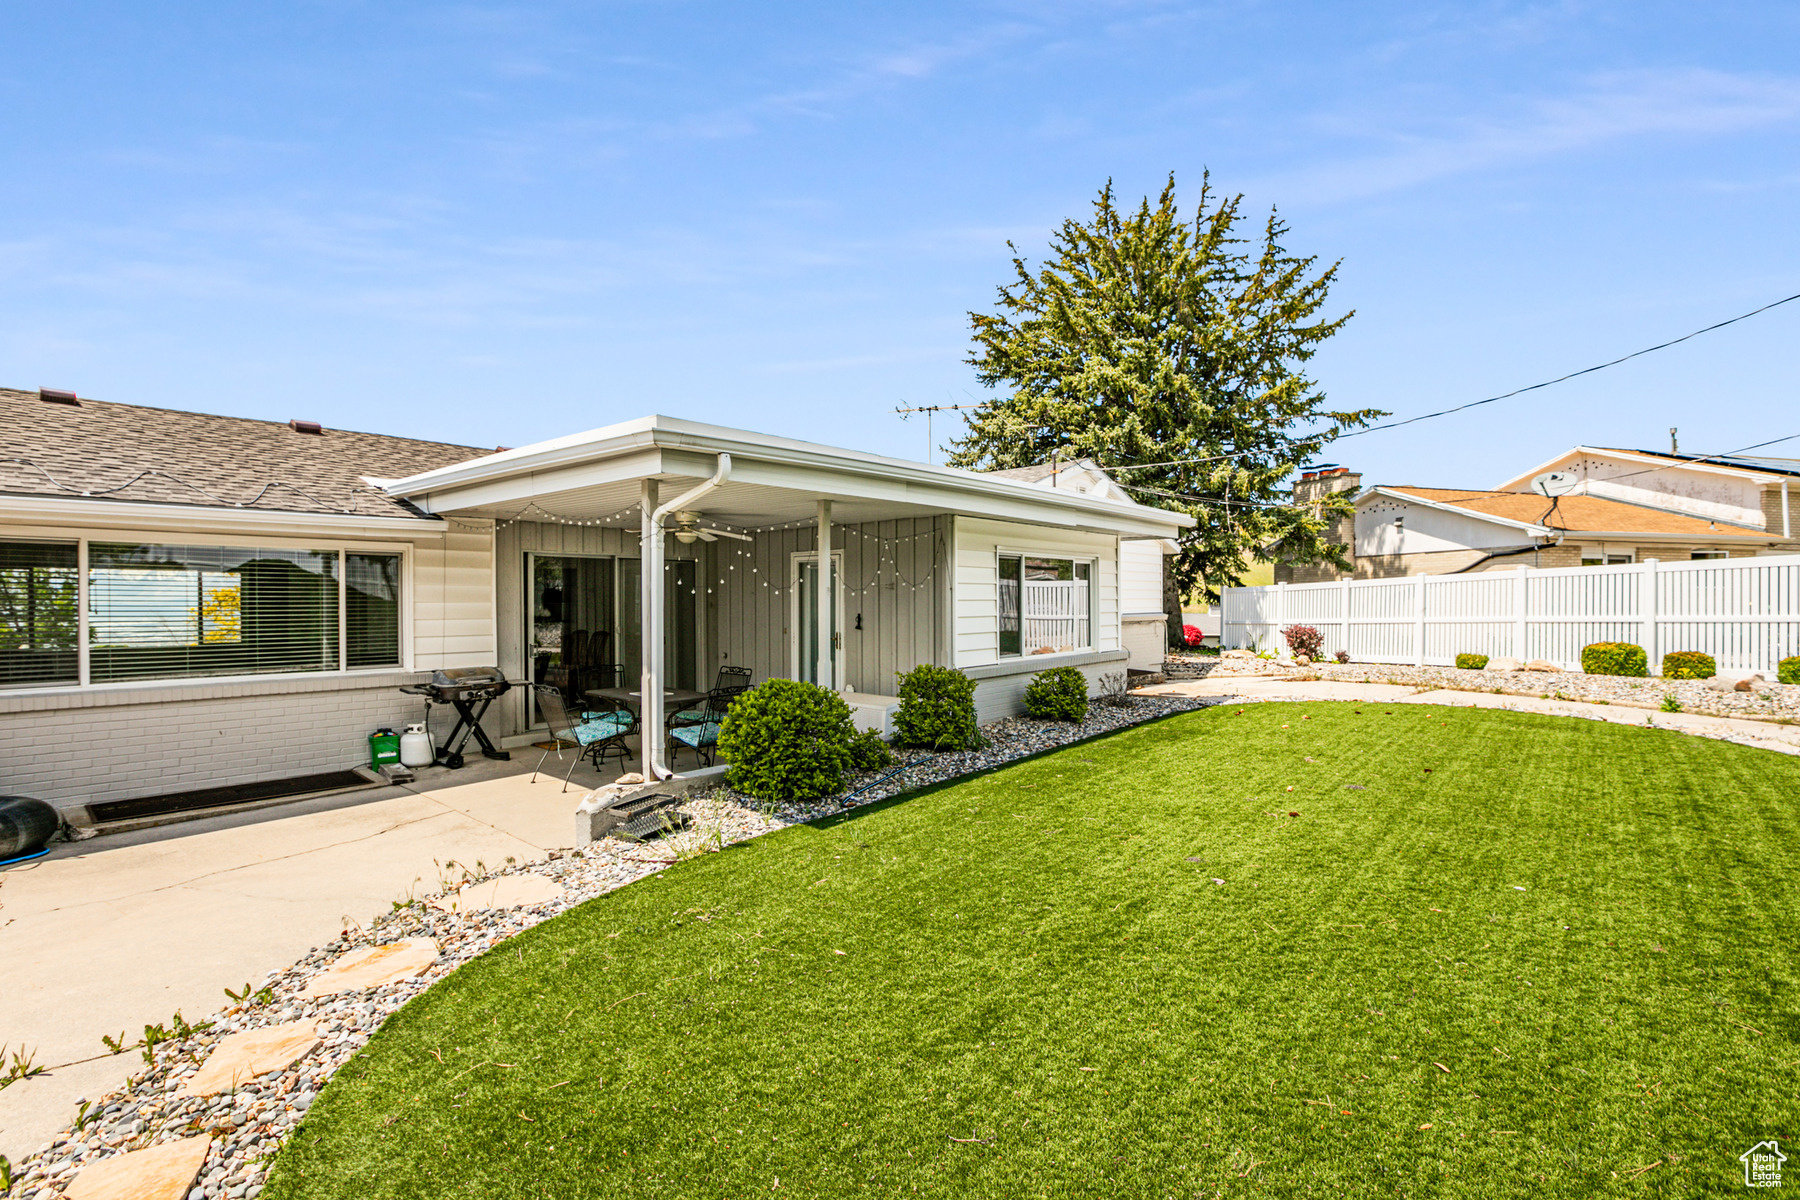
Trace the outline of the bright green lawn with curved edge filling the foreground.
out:
<instances>
[{"instance_id":1,"label":"bright green lawn with curved edge filling the foreground","mask_svg":"<svg viewBox=\"0 0 1800 1200\"><path fill-rule=\"evenodd\" d=\"M265 1196L1737 1193L1800 1137L1796 802L1661 730L1174 718L504 943Z\"/></svg>"}]
</instances>

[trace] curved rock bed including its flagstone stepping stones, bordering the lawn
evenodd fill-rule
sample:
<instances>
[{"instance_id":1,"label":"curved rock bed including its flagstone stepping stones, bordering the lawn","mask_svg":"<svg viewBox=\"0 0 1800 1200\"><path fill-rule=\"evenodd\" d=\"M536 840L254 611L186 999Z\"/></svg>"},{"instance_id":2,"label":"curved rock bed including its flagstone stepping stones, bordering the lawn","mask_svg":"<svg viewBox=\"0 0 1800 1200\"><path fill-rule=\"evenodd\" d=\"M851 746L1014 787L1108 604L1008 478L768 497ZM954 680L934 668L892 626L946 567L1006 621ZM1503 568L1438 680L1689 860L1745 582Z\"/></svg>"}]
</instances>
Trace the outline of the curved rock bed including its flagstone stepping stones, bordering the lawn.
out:
<instances>
[{"instance_id":1,"label":"curved rock bed including its flagstone stepping stones, bordering the lawn","mask_svg":"<svg viewBox=\"0 0 1800 1200\"><path fill-rule=\"evenodd\" d=\"M1125 696L1093 705L1078 725L1010 718L983 727L986 748L902 752L898 770L805 804L767 806L720 784L682 801L691 826L668 838L551 851L544 862L464 882L446 892L450 901L396 905L272 973L259 993L200 1031L157 1043L146 1070L83 1105L76 1126L14 1164L4 1195L256 1200L268 1159L337 1069L407 1000L508 937L733 842L1213 703L1220 700Z\"/></svg>"}]
</instances>

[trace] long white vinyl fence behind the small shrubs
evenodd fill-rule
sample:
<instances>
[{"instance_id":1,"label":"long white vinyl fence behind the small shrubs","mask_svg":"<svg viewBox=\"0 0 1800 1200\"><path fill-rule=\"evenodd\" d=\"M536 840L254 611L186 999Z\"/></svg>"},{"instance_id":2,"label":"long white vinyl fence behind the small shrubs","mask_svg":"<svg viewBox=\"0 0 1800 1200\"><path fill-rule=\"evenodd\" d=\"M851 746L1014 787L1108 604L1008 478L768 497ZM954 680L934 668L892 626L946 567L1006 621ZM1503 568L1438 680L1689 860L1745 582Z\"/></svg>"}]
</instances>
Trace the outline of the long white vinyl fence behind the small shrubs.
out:
<instances>
[{"instance_id":1,"label":"long white vinyl fence behind the small shrubs","mask_svg":"<svg viewBox=\"0 0 1800 1200\"><path fill-rule=\"evenodd\" d=\"M1228 649L1285 649L1282 630L1310 624L1325 655L1449 666L1456 655L1548 658L1580 669L1582 646L1636 642L1651 673L1676 649L1721 671L1762 671L1800 655L1800 554L1625 567L1517 567L1224 588Z\"/></svg>"}]
</instances>

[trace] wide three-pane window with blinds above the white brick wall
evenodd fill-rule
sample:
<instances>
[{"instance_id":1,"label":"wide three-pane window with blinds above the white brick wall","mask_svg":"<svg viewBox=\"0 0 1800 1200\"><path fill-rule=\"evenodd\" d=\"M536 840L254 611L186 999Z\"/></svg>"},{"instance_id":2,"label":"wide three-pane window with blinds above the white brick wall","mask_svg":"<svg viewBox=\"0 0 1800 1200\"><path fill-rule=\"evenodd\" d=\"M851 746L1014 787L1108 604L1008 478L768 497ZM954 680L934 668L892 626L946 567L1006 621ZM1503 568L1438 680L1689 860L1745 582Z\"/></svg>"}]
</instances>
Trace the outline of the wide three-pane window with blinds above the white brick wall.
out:
<instances>
[{"instance_id":1,"label":"wide three-pane window with blinds above the white brick wall","mask_svg":"<svg viewBox=\"0 0 1800 1200\"><path fill-rule=\"evenodd\" d=\"M401 666L400 554L0 543L0 685ZM86 676L79 649L86 649Z\"/></svg>"}]
</instances>

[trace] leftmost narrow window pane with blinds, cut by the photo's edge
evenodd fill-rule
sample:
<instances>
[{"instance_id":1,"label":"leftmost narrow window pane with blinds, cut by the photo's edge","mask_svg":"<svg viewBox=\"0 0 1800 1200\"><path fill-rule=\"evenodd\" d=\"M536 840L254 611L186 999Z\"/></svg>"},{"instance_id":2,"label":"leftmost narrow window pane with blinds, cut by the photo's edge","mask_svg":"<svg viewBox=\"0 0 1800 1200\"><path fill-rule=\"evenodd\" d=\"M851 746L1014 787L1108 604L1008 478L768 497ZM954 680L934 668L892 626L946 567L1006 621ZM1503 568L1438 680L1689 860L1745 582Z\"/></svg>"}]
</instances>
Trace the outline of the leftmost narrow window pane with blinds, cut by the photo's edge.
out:
<instances>
[{"instance_id":1,"label":"leftmost narrow window pane with blinds, cut by the photo's edge","mask_svg":"<svg viewBox=\"0 0 1800 1200\"><path fill-rule=\"evenodd\" d=\"M79 678L81 572L74 542L0 542L0 687Z\"/></svg>"}]
</instances>

